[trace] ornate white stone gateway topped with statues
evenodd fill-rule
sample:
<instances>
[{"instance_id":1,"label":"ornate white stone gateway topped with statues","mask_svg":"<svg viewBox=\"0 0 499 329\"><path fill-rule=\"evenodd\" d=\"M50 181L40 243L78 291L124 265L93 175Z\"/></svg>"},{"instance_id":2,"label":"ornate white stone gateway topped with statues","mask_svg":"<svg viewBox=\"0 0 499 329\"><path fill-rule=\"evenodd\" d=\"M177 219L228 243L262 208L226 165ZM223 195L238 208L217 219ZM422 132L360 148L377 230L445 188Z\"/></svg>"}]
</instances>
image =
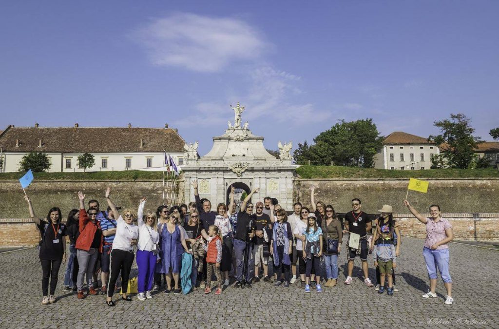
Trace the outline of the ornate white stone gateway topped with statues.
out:
<instances>
[{"instance_id":1,"label":"ornate white stone gateway topped with statues","mask_svg":"<svg viewBox=\"0 0 499 329\"><path fill-rule=\"evenodd\" d=\"M293 173L296 168L289 154L291 143L281 145L280 155L275 158L263 146L263 137L255 136L248 129L248 122L241 124L244 106L239 102L233 107L234 125L229 122L225 134L213 137L211 151L198 159L197 143L186 145L187 164L182 166L185 177L186 203L194 201L191 180L198 179L198 191L201 198L210 199L215 208L221 202L228 202L231 185L247 192L260 188L253 198L263 200L270 196L279 200L279 204L290 210L293 203ZM213 209L212 209L213 210Z\"/></svg>"}]
</instances>

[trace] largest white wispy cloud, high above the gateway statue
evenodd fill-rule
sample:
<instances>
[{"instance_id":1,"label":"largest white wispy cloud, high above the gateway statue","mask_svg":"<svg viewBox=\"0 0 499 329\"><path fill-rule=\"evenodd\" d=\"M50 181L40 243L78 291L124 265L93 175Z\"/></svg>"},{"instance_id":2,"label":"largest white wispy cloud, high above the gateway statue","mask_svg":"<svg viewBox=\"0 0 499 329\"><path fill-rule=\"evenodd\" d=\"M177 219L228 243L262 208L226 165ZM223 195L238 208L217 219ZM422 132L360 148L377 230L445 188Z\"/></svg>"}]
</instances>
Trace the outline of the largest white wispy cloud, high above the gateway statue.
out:
<instances>
[{"instance_id":1,"label":"largest white wispy cloud, high above the gateway statue","mask_svg":"<svg viewBox=\"0 0 499 329\"><path fill-rule=\"evenodd\" d=\"M132 37L146 47L155 65L199 72L217 72L232 62L254 61L272 48L243 20L192 13L153 19Z\"/></svg>"}]
</instances>

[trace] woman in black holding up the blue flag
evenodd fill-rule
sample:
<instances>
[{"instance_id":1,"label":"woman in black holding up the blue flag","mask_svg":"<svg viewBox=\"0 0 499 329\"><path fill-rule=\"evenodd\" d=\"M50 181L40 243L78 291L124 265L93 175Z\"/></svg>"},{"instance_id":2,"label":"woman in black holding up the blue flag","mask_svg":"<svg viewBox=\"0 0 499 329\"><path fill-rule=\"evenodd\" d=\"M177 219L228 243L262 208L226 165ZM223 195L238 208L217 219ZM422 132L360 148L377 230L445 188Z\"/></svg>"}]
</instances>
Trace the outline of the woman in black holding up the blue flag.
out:
<instances>
[{"instance_id":1,"label":"woman in black holding up the blue flag","mask_svg":"<svg viewBox=\"0 0 499 329\"><path fill-rule=\"evenodd\" d=\"M41 304L55 303L55 287L61 263L66 263L66 225L61 223L61 211L57 207L50 208L46 220L35 216L31 200L27 195L24 199L28 203L29 216L36 224L41 234L39 257L42 269L41 290L43 299ZM50 278L50 295L48 295L48 279Z\"/></svg>"}]
</instances>

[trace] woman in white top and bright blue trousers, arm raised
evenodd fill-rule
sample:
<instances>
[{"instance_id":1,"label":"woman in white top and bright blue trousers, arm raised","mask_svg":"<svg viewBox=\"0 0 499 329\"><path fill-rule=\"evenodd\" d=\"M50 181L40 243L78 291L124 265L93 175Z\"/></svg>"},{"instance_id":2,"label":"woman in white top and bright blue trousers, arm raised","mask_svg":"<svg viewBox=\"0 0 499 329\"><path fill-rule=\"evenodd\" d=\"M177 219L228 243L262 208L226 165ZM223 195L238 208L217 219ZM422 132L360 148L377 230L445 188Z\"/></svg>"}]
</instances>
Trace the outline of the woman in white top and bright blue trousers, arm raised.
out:
<instances>
[{"instance_id":1,"label":"woman in white top and bright blue trousers, arm raised","mask_svg":"<svg viewBox=\"0 0 499 329\"><path fill-rule=\"evenodd\" d=\"M154 281L154 270L159 259L159 233L156 213L146 210L146 221L142 219L146 198L140 200L139 210L137 211L137 221L139 224L139 242L137 244L137 267L138 275L138 295L141 301L151 299L151 290ZM145 293L144 293L145 292Z\"/></svg>"}]
</instances>

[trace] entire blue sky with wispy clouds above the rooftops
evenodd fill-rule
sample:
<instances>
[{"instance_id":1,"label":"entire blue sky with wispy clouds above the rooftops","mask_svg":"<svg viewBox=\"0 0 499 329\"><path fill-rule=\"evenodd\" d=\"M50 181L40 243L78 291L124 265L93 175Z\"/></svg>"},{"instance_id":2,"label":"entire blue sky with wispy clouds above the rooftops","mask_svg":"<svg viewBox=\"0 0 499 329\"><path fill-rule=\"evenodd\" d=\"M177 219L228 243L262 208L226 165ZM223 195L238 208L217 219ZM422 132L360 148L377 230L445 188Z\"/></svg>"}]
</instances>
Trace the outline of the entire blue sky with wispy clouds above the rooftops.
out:
<instances>
[{"instance_id":1,"label":"entire blue sky with wispy clouds above the rooftops","mask_svg":"<svg viewBox=\"0 0 499 329\"><path fill-rule=\"evenodd\" d=\"M179 129L206 154L243 122L309 142L337 120L499 126L499 1L2 1L0 129Z\"/></svg>"}]
</instances>

